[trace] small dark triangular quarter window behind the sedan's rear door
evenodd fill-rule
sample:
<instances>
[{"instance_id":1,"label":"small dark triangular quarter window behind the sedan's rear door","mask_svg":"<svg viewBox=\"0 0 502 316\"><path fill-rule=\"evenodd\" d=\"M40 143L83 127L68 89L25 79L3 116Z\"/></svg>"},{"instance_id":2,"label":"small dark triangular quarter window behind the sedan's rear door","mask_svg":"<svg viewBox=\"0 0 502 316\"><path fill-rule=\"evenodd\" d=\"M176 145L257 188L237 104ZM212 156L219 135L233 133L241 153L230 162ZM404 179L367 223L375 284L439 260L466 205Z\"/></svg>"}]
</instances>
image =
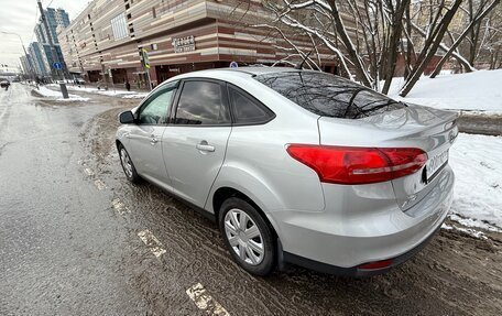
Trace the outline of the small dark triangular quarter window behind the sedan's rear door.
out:
<instances>
[{"instance_id":1,"label":"small dark triangular quarter window behind the sedan's rear door","mask_svg":"<svg viewBox=\"0 0 502 316\"><path fill-rule=\"evenodd\" d=\"M274 113L249 94L229 86L233 119L238 124L260 124L274 118Z\"/></svg>"}]
</instances>

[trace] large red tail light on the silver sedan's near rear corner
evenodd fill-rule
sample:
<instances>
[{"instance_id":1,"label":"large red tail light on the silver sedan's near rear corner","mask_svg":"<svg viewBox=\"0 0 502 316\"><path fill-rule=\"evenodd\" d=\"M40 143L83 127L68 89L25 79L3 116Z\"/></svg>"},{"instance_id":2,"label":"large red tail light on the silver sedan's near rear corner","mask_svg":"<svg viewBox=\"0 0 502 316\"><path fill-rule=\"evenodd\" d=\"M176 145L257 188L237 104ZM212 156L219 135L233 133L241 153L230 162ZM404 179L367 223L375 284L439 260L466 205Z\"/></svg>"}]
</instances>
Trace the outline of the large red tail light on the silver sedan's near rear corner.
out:
<instances>
[{"instance_id":1,"label":"large red tail light on the silver sedan's near rear corner","mask_svg":"<svg viewBox=\"0 0 502 316\"><path fill-rule=\"evenodd\" d=\"M291 144L287 153L313 168L321 182L370 184L413 174L427 154L412 148L351 148Z\"/></svg>"}]
</instances>

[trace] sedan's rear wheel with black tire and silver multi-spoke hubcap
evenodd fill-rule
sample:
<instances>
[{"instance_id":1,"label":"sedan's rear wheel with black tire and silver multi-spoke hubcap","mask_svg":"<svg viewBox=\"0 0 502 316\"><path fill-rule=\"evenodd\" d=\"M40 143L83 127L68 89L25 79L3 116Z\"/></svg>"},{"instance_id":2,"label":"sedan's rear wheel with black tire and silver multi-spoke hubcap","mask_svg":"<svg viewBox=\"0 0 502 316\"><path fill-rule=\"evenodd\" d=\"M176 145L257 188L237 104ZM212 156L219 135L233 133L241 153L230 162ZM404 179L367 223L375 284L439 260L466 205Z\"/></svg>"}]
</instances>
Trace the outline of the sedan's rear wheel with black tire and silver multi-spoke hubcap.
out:
<instances>
[{"instance_id":1,"label":"sedan's rear wheel with black tire and silver multi-spoke hubcap","mask_svg":"<svg viewBox=\"0 0 502 316\"><path fill-rule=\"evenodd\" d=\"M230 197L220 207L218 224L232 259L254 275L275 268L275 238L262 215L248 201ZM261 251L261 252L260 252Z\"/></svg>"}]
</instances>

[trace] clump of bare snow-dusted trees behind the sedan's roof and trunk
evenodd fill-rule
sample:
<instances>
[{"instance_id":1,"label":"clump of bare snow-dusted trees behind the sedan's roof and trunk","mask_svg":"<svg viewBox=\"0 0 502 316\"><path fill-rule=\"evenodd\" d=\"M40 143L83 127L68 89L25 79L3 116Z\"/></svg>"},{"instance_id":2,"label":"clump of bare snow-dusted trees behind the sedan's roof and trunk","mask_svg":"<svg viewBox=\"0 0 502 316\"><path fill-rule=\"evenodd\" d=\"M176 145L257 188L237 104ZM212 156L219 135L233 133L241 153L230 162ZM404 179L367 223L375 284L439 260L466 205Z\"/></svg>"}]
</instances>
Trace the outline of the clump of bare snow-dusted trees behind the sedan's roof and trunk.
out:
<instances>
[{"instance_id":1,"label":"clump of bare snow-dusted trees behind the sedan's roof and trunk","mask_svg":"<svg viewBox=\"0 0 502 316\"><path fill-rule=\"evenodd\" d=\"M404 72L405 84L400 91L404 97L437 58L438 51L445 55L433 77L450 57L467 72L476 70L472 61L478 56L488 59L490 67L500 66L502 18L500 10L494 10L499 2L265 0L262 6L270 14L248 26L268 30L274 37L273 46L285 53L276 64L294 65L305 58L306 67L321 69L324 61L337 61L343 75L384 94L393 77ZM467 7L460 7L462 3ZM465 13L469 23L462 22L466 19L461 20L458 12ZM476 41L474 53L466 54L467 58L461 54L466 41Z\"/></svg>"}]
</instances>

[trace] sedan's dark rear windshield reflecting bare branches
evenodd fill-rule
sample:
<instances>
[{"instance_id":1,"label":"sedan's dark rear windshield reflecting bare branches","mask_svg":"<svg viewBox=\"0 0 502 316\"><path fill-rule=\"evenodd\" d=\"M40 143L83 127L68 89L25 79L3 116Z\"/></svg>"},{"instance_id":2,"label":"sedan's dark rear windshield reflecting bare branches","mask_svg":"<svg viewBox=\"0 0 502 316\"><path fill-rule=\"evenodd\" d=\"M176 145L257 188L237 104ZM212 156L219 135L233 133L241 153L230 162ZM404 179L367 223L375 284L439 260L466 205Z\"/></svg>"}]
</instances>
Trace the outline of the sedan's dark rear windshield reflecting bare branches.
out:
<instances>
[{"instance_id":1,"label":"sedan's dark rear windshield reflecting bare branches","mask_svg":"<svg viewBox=\"0 0 502 316\"><path fill-rule=\"evenodd\" d=\"M359 119L406 107L367 87L327 73L271 73L255 76L254 79L323 117Z\"/></svg>"}]
</instances>

